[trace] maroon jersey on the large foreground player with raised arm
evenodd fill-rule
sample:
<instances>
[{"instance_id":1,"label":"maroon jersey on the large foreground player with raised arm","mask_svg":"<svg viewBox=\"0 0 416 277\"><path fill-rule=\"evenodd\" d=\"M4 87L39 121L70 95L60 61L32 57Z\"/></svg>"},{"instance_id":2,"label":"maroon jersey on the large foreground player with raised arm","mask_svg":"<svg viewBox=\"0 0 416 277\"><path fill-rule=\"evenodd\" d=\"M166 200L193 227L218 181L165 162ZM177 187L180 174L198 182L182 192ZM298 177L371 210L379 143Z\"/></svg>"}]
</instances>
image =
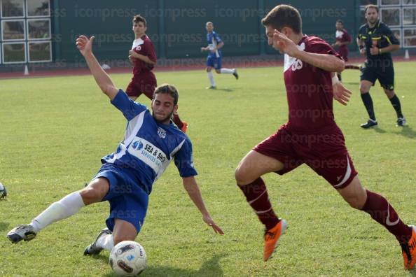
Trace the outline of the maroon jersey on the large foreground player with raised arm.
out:
<instances>
[{"instance_id":1,"label":"maroon jersey on the large foreground player with raised arm","mask_svg":"<svg viewBox=\"0 0 416 277\"><path fill-rule=\"evenodd\" d=\"M298 49L340 57L326 41L316 36L303 36ZM284 83L289 103L289 129L293 132L316 133L336 126L330 72L285 54Z\"/></svg>"}]
</instances>

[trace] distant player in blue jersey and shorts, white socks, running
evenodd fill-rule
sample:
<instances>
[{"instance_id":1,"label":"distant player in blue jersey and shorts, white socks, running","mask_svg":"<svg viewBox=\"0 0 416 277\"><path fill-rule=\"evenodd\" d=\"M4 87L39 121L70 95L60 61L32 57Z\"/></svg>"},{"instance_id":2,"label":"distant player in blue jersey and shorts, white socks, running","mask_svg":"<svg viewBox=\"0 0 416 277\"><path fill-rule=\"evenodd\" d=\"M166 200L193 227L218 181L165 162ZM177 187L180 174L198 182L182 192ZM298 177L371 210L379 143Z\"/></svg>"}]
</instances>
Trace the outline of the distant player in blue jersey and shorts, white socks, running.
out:
<instances>
[{"instance_id":1,"label":"distant player in blue jersey and shorts, white socks, running","mask_svg":"<svg viewBox=\"0 0 416 277\"><path fill-rule=\"evenodd\" d=\"M233 74L233 76L238 79L237 69L223 69L221 66L221 48L223 48L224 43L221 41L219 34L216 34L214 31L214 24L212 22L207 22L205 24L207 28L207 47L202 47L201 51L209 51L207 57L207 73L209 78L209 87L207 89L216 89L216 83L214 80L214 75L212 74L212 69L215 69L216 73L224 74Z\"/></svg>"}]
</instances>

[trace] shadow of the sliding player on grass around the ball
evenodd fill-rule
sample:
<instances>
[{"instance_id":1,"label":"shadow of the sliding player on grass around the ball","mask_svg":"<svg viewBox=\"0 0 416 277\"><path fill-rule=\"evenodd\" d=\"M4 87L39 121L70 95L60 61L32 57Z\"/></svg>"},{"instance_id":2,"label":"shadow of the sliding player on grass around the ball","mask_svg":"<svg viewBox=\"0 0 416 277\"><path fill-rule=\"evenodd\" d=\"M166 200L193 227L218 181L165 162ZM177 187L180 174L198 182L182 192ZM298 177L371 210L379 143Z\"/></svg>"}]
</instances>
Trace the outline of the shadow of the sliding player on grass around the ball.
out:
<instances>
[{"instance_id":1,"label":"shadow of the sliding player on grass around the ball","mask_svg":"<svg viewBox=\"0 0 416 277\"><path fill-rule=\"evenodd\" d=\"M225 255L215 255L211 259L207 260L202 264L202 267L197 270L193 271L190 269L178 269L174 267L158 267L157 265L149 266L147 269L141 274L140 276L169 276L169 277L220 277L223 276L223 269L221 269L221 266L219 265L219 260L224 257ZM99 258L101 260L106 260L108 262L108 259L104 256L95 256L96 258ZM116 274L110 273L103 275L104 277L113 277L116 276Z\"/></svg>"}]
</instances>

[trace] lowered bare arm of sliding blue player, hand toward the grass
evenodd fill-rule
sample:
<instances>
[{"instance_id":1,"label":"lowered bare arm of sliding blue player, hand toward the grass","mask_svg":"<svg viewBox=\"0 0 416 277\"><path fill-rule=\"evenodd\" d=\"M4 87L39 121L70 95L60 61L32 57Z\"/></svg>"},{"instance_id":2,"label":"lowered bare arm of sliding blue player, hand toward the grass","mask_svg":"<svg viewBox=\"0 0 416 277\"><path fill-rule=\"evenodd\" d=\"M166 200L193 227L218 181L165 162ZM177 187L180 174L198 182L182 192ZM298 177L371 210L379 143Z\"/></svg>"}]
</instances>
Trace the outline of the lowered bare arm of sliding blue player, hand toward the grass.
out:
<instances>
[{"instance_id":1,"label":"lowered bare arm of sliding blue player, hand toward the grass","mask_svg":"<svg viewBox=\"0 0 416 277\"><path fill-rule=\"evenodd\" d=\"M186 192L188 192L189 198L202 213L202 220L204 220L207 225L211 226L212 229L214 229L214 232L218 234L224 234L223 230L221 230L221 228L215 224L214 220L211 218L211 215L209 215L207 208L205 208L204 200L202 199L200 192L200 187L198 187L195 177L184 177L182 180L183 187L185 187Z\"/></svg>"}]
</instances>

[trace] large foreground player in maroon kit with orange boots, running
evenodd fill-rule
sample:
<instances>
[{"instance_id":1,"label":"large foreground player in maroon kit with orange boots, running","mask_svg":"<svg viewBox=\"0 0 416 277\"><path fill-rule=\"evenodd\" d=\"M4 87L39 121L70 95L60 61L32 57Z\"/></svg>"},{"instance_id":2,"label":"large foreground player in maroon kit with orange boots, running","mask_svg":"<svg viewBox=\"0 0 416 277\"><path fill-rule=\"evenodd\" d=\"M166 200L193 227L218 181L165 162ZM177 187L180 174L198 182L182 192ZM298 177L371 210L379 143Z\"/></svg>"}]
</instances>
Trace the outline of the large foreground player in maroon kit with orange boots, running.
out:
<instances>
[{"instance_id":1,"label":"large foreground player in maroon kit with orange boots, running","mask_svg":"<svg viewBox=\"0 0 416 277\"><path fill-rule=\"evenodd\" d=\"M289 122L242 159L235 178L265 225L263 260L270 259L287 223L275 215L261 176L269 172L282 175L305 163L350 206L369 213L394 234L401 245L405 268L412 269L416 263L416 227L405 225L387 199L361 185L344 136L335 123L332 98L347 104L350 95L334 73L344 69L340 55L321 38L303 35L300 13L292 6L276 6L262 23L269 45L285 54Z\"/></svg>"}]
</instances>

